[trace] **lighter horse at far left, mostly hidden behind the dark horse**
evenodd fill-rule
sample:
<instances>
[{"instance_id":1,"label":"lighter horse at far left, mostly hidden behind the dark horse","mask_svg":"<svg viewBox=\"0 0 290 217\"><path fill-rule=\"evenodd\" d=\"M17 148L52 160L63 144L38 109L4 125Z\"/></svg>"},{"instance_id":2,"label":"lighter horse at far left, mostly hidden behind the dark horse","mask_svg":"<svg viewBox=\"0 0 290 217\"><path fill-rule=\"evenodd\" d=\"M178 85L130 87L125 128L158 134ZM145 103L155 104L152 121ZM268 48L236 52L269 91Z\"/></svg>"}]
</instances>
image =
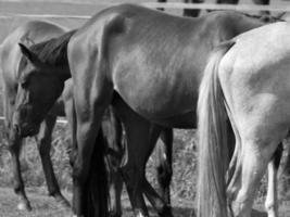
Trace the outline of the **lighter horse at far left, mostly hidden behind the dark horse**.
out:
<instances>
[{"instance_id":1,"label":"lighter horse at far left, mostly hidden behind the dark horse","mask_svg":"<svg viewBox=\"0 0 290 217\"><path fill-rule=\"evenodd\" d=\"M17 41L22 41L27 46L33 46L39 41L47 40L49 38L64 34L66 29L52 23L47 22L28 22L27 24L16 28L11 33L1 44L0 59L2 60L1 69L3 77L3 89L4 89L4 114L5 114L5 126L9 131L9 150L12 154L13 161L13 174L14 174L14 190L18 194L20 203L18 209L30 210L31 206L29 200L26 196L23 179L20 173L18 153L22 146L23 138L17 137L13 130L12 114L15 107L16 98L16 86L17 86L17 66L21 61L21 51L18 47L15 47ZM14 67L13 67L14 66ZM47 184L49 194L54 196L56 202L63 205L65 208L70 206L70 203L63 197L58 186L55 175L53 173L51 159L50 159L50 146L51 146L51 133L55 124L56 116L66 116L71 119L72 116L72 79L65 82L63 94L60 97L58 102L53 105L52 110L46 117L46 120L41 124L40 133L36 137L40 157L45 175L47 178ZM72 122L72 120L71 120ZM108 170L109 187L110 187L110 213L111 216L121 216L121 193L123 181L121 174L118 173L118 165L121 164L124 148L122 142L122 126L112 110L108 110L105 117L102 122L103 137L106 141L105 146L105 158L106 164L110 165ZM159 161L156 164L157 168L157 180L161 187L161 194L163 199L169 203L169 182L172 177L171 166L171 150L172 150L172 136L171 130L164 129L161 132L161 138L164 141L163 144L157 145ZM167 151L168 150L168 151ZM164 157L164 154L166 157ZM168 162L169 161L169 162Z\"/></svg>"}]
</instances>

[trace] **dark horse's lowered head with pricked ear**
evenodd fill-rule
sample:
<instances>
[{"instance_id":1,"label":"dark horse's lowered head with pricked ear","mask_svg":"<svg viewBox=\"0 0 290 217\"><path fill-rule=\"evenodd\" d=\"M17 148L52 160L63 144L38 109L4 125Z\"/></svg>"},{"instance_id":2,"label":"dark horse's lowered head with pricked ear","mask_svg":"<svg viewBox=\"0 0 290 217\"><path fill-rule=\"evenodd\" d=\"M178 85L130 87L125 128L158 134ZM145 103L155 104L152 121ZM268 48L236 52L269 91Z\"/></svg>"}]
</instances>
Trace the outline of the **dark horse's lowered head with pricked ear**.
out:
<instances>
[{"instance_id":1,"label":"dark horse's lowered head with pricked ear","mask_svg":"<svg viewBox=\"0 0 290 217\"><path fill-rule=\"evenodd\" d=\"M18 65L18 85L13 126L22 136L34 136L40 123L61 95L64 80L60 67L43 62L35 52L20 43L23 58Z\"/></svg>"}]
</instances>

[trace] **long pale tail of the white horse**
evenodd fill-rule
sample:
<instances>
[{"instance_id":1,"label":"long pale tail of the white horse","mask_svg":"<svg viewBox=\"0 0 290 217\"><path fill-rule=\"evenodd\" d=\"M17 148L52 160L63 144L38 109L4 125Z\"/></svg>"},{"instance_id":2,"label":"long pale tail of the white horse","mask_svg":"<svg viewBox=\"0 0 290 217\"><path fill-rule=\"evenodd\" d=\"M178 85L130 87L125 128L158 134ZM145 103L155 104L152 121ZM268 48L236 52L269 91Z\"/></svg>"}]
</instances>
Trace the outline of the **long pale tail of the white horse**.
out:
<instances>
[{"instance_id":1,"label":"long pale tail of the white horse","mask_svg":"<svg viewBox=\"0 0 290 217\"><path fill-rule=\"evenodd\" d=\"M227 113L218 66L235 41L214 50L204 69L198 101L199 180L198 217L227 217Z\"/></svg>"}]
</instances>

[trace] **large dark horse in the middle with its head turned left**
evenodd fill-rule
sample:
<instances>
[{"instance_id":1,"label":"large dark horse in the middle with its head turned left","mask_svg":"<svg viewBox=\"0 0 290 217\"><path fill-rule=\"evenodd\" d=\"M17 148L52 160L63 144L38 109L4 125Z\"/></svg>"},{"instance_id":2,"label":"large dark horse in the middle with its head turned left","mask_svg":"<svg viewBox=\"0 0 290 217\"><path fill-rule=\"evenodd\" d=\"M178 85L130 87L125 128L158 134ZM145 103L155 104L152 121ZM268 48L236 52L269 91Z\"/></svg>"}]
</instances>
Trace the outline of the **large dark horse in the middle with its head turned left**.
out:
<instances>
[{"instance_id":1,"label":"large dark horse in the middle with its head turned left","mask_svg":"<svg viewBox=\"0 0 290 217\"><path fill-rule=\"evenodd\" d=\"M100 119L112 104L124 125L127 146L131 148L121 170L125 179L131 178L127 191L135 216L149 216L142 194L160 216L171 216L169 207L143 173L153 146L149 144L156 140L151 123L155 127L196 128L198 87L210 51L220 41L264 24L235 12L186 18L134 4L109 8L77 31L29 49L20 44L25 58L20 67L22 79L13 124L20 135L37 132L64 81L72 77L77 145L74 213L87 216L83 199L88 194L84 184L90 155Z\"/></svg>"}]
</instances>

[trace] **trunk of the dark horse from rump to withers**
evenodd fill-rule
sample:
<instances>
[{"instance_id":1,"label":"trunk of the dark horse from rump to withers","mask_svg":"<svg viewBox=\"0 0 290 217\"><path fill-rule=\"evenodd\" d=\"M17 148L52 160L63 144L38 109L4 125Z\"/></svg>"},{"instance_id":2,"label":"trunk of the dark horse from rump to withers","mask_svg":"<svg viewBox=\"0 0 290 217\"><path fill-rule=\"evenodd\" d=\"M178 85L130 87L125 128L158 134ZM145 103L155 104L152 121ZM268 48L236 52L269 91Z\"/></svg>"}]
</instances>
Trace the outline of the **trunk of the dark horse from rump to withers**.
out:
<instances>
[{"instance_id":1,"label":"trunk of the dark horse from rump to withers","mask_svg":"<svg viewBox=\"0 0 290 217\"><path fill-rule=\"evenodd\" d=\"M73 77L88 92L96 90L97 80L105 79L135 112L159 123L181 117L194 122L196 108L188 99L197 102L210 51L262 25L241 17L216 12L185 18L130 4L110 8L72 37Z\"/></svg>"}]
</instances>

